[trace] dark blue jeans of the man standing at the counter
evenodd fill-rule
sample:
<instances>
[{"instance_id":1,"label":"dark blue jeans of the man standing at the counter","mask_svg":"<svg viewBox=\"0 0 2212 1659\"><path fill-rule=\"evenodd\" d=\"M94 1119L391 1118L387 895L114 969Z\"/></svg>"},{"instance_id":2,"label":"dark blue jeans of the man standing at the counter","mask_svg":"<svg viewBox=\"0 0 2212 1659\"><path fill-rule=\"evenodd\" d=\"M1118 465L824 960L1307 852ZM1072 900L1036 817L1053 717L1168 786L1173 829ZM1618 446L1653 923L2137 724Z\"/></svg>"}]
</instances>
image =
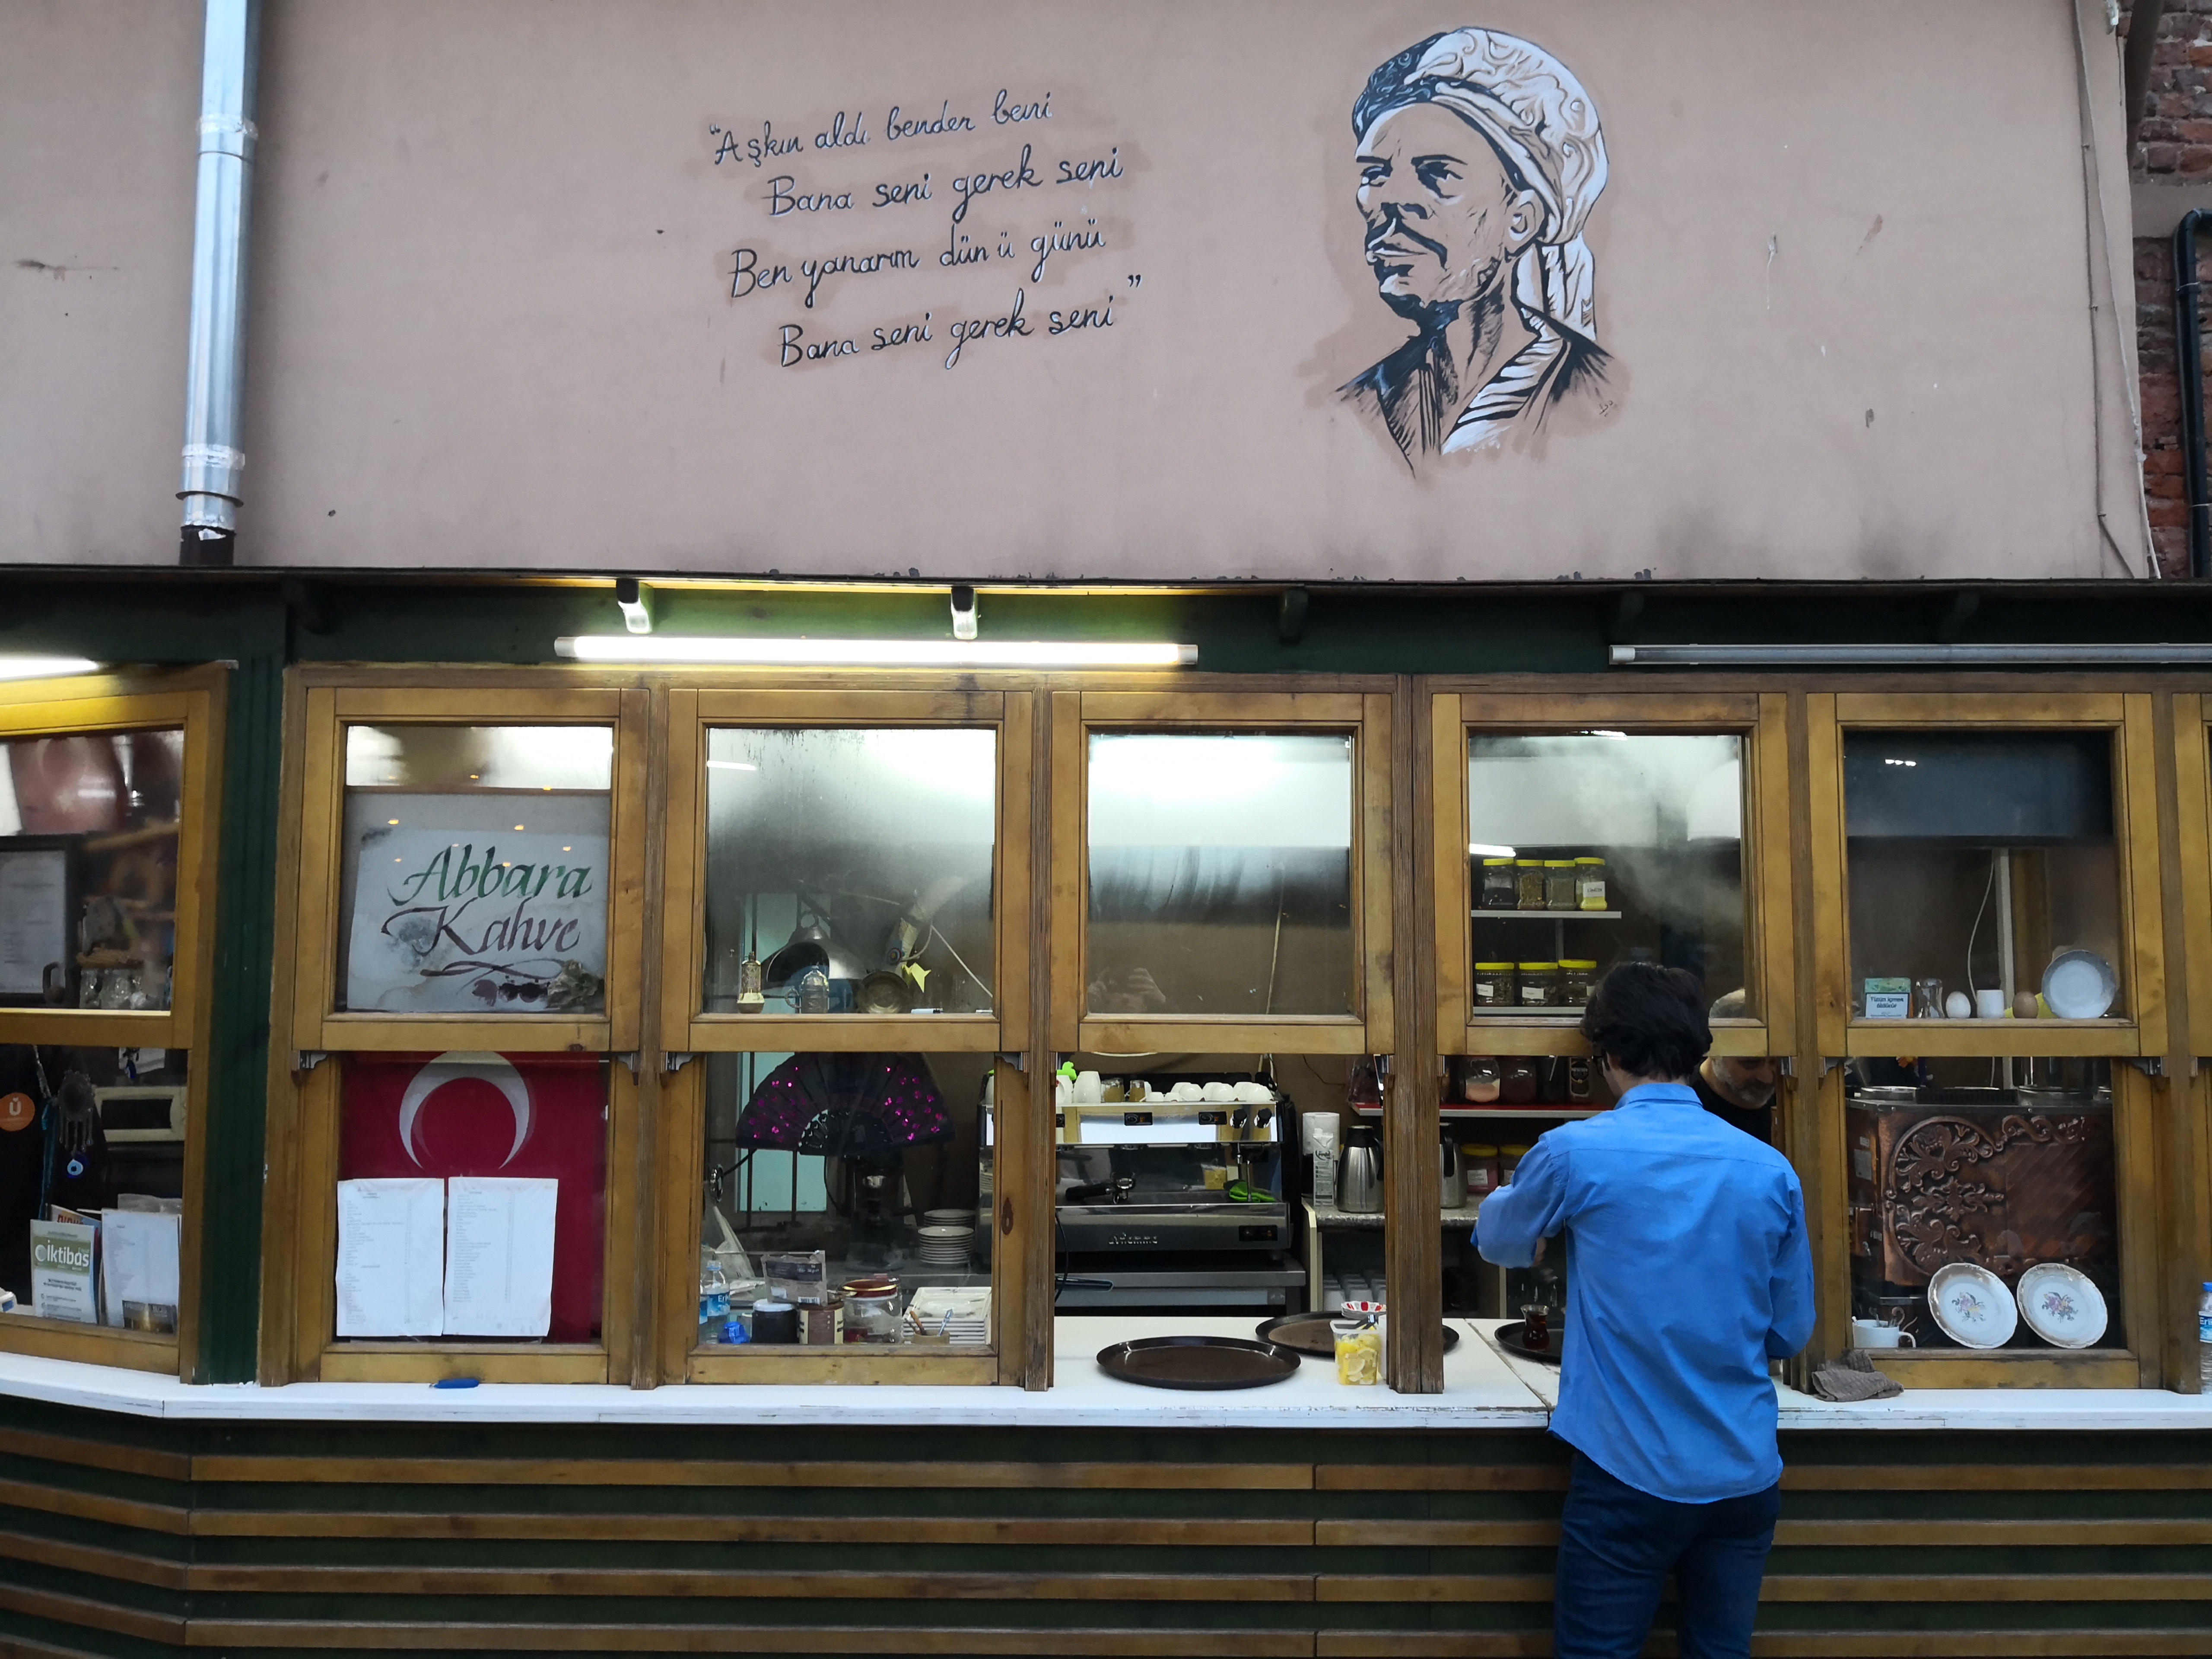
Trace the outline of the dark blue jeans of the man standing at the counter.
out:
<instances>
[{"instance_id":1,"label":"dark blue jeans of the man standing at the counter","mask_svg":"<svg viewBox=\"0 0 2212 1659\"><path fill-rule=\"evenodd\" d=\"M1555 1659L1632 1659L1668 1573L1681 1610L1681 1659L1747 1659L1759 1579L1783 1509L1776 1482L1750 1498L1674 1504L1575 1453L1559 1515Z\"/></svg>"}]
</instances>

